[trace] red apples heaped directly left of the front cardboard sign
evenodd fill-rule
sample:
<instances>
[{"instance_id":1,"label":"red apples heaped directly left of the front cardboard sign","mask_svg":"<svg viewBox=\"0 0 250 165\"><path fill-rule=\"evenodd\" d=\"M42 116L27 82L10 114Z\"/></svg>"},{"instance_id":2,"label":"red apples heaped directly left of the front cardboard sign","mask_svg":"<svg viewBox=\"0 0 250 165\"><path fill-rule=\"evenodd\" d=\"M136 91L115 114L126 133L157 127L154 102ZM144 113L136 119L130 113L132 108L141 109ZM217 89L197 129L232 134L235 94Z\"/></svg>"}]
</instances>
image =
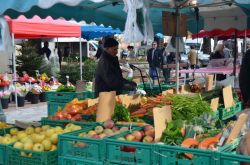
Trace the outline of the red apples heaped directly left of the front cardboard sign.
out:
<instances>
[{"instance_id":1,"label":"red apples heaped directly left of the front cardboard sign","mask_svg":"<svg viewBox=\"0 0 250 165\"><path fill-rule=\"evenodd\" d=\"M143 143L153 143L155 137L155 129L151 125L147 125L141 131L133 131L126 136L119 137L117 140L126 140L134 142L143 142Z\"/></svg>"}]
</instances>

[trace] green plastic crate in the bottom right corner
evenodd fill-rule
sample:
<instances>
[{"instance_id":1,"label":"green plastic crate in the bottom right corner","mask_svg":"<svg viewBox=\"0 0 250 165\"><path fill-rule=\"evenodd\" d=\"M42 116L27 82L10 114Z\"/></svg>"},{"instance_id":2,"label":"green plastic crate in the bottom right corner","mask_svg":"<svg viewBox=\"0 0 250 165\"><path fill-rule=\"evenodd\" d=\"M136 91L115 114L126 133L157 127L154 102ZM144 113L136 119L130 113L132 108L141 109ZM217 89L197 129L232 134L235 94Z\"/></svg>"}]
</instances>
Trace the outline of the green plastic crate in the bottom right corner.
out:
<instances>
[{"instance_id":1,"label":"green plastic crate in the bottom right corner","mask_svg":"<svg viewBox=\"0 0 250 165\"><path fill-rule=\"evenodd\" d=\"M250 156L233 153L220 154L220 165L243 165L243 163L250 164Z\"/></svg>"}]
</instances>

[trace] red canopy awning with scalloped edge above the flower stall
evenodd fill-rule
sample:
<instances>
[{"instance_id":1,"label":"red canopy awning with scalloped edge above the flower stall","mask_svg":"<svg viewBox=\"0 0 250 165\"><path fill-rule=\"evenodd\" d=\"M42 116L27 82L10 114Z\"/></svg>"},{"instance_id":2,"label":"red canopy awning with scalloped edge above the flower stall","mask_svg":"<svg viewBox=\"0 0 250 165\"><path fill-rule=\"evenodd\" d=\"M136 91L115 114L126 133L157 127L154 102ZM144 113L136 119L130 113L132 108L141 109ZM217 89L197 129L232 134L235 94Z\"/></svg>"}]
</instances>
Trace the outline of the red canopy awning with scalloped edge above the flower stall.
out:
<instances>
[{"instance_id":1,"label":"red canopy awning with scalloped edge above the flower stall","mask_svg":"<svg viewBox=\"0 0 250 165\"><path fill-rule=\"evenodd\" d=\"M21 15L17 19L5 16L9 24L10 33L15 38L57 38L57 37L80 37L81 27L78 24L70 23L62 19L53 20L50 16L41 19L34 16L27 19Z\"/></svg>"}]
</instances>

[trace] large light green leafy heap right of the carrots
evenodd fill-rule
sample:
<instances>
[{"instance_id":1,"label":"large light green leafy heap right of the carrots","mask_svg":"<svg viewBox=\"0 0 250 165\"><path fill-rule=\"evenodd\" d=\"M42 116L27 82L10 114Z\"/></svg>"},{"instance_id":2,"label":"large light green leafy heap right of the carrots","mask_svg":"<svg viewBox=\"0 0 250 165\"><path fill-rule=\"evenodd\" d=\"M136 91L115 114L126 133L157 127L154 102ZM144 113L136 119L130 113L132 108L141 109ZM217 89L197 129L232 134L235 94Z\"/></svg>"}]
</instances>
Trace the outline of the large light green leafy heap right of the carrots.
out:
<instances>
[{"instance_id":1,"label":"large light green leafy heap right of the carrots","mask_svg":"<svg viewBox=\"0 0 250 165\"><path fill-rule=\"evenodd\" d=\"M203 101L200 95L173 95L170 100L172 101L173 120L191 120L204 112L212 112L209 103Z\"/></svg>"}]
</instances>

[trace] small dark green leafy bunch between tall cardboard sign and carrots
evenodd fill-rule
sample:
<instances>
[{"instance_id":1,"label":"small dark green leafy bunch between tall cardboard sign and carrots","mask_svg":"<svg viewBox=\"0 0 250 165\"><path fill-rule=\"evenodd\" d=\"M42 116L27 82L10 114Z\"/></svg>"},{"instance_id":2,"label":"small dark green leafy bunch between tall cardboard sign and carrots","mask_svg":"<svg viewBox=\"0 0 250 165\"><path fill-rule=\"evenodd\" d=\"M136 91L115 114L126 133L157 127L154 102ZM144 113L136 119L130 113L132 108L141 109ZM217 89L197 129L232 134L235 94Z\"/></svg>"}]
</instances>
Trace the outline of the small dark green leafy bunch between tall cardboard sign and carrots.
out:
<instances>
[{"instance_id":1,"label":"small dark green leafy bunch between tall cardboard sign and carrots","mask_svg":"<svg viewBox=\"0 0 250 165\"><path fill-rule=\"evenodd\" d=\"M112 117L113 121L131 121L128 109L122 104L115 105L115 112Z\"/></svg>"}]
</instances>

